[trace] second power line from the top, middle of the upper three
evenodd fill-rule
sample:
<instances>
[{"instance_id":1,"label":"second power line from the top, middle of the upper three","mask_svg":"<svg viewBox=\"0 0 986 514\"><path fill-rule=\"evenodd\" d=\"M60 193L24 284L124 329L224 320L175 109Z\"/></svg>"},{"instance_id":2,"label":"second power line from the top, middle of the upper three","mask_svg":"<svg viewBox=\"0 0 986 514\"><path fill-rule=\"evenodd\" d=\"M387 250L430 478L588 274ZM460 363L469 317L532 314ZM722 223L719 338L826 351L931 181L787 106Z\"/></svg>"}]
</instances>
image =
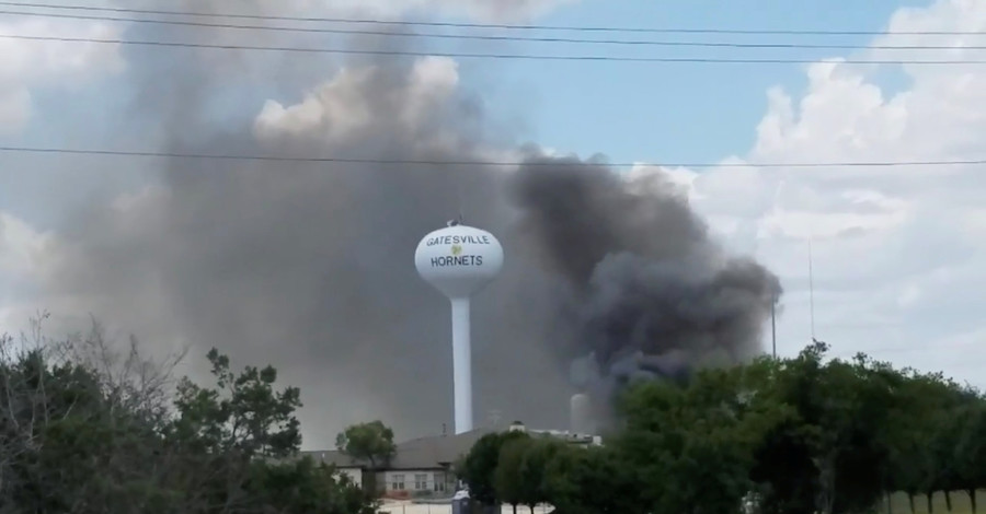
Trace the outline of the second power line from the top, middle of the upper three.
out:
<instances>
[{"instance_id":1,"label":"second power line from the top, middle of the upper three","mask_svg":"<svg viewBox=\"0 0 986 514\"><path fill-rule=\"evenodd\" d=\"M0 2L0 5L7 2ZM673 42L673 40L640 40L640 39L586 39L577 37L534 37L534 36L496 36L484 34L438 34L414 32L387 32L360 28L325 28L325 27L291 27L291 26L264 26L243 25L236 23L194 22L183 20L150 20L142 17L98 16L85 14L61 14L43 12L23 12L0 10L0 14L39 16L69 20L112 21L126 23L147 23L159 25L192 26L204 28L232 28L249 31L289 32L309 34L342 34L342 35L368 35L382 37L412 37L457 40L488 40L488 42L525 42L525 43L563 43L563 44L589 44L589 45L619 45L619 46L658 46L658 47L699 47L699 48L744 48L744 49L823 49L823 50L986 50L986 46L942 46L942 45L833 45L833 44L804 44L804 43L723 43L723 42Z\"/></svg>"}]
</instances>

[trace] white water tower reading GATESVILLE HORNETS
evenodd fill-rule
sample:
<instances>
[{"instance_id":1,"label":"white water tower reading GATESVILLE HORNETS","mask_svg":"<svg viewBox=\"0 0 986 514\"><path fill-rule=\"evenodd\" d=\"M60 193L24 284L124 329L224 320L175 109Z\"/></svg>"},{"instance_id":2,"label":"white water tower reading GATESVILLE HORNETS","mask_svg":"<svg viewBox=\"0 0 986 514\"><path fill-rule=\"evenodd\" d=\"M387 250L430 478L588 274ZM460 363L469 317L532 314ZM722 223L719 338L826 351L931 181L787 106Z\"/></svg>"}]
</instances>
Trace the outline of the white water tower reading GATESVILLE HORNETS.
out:
<instances>
[{"instance_id":1,"label":"white water tower reading GATESVILLE HORNETS","mask_svg":"<svg viewBox=\"0 0 986 514\"><path fill-rule=\"evenodd\" d=\"M472 347L469 299L503 268L503 247L486 231L449 222L417 244L419 274L451 302L456 433L472 430Z\"/></svg>"}]
</instances>

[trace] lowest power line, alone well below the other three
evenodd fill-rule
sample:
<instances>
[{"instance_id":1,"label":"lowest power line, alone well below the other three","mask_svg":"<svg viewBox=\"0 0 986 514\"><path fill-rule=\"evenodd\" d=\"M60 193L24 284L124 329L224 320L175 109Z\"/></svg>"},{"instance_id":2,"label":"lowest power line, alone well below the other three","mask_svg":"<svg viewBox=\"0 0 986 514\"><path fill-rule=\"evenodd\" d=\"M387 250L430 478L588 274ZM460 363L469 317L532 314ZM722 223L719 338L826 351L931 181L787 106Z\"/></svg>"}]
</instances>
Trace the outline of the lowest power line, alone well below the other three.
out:
<instances>
[{"instance_id":1,"label":"lowest power line, alone well below the other three","mask_svg":"<svg viewBox=\"0 0 986 514\"><path fill-rule=\"evenodd\" d=\"M274 161L274 162L307 162L307 163L349 163L349 164L423 164L423 165L450 165L450 166L553 166L553 165L575 165L575 166L603 166L603 167L635 167L657 165L663 167L691 167L691 168L709 168L709 167L760 167L760 168L784 168L784 167L918 167L918 166L965 166L965 165L986 165L986 159L966 160L966 161L856 161L856 162L802 162L802 163L606 163L606 162L586 162L577 160L565 161L442 161L442 160L404 160L404 159L346 159L346 157L298 157L289 155L237 155L237 154L207 154L207 153L181 153L181 152L156 152L156 151L136 151L136 150L96 150L96 149L64 149L64 148L30 148L30 147L0 147L0 152L11 153L41 153L41 154L73 154L73 155L105 155L105 156L136 156L136 157L164 157L164 159L199 159L199 160L219 160L219 161ZM558 156L558 159L567 159ZM571 157L574 159L574 157Z\"/></svg>"}]
</instances>

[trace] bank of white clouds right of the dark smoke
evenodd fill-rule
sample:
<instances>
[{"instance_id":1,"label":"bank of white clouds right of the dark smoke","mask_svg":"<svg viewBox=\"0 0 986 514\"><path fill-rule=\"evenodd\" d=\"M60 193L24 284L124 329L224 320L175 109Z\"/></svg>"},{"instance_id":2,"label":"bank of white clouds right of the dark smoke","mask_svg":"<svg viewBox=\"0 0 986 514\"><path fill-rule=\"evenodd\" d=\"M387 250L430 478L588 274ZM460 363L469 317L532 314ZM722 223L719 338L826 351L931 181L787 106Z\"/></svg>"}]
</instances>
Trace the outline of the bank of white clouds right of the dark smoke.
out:
<instances>
[{"instance_id":1,"label":"bank of white clouds right of the dark smoke","mask_svg":"<svg viewBox=\"0 0 986 514\"><path fill-rule=\"evenodd\" d=\"M986 31L986 3L939 0L901 9L892 32ZM884 36L874 45L968 46L974 36ZM986 52L869 50L882 59L984 59ZM806 91L776 87L747 162L950 161L986 157L986 68L913 66L888 93L873 68L819 62ZM735 160L735 157L734 157ZM643 173L638 171L637 173ZM972 378L986 359L986 170L983 166L676 170L729 245L755 253L788 290L779 343L811 332L807 250L814 257L815 330L848 355ZM956 341L960 341L961 344ZM977 347L978 344L978 347ZM958 355L961 359L950 359ZM973 354L971 354L973 353ZM938 357L931 359L932 355ZM979 381L979 385L986 385Z\"/></svg>"}]
</instances>

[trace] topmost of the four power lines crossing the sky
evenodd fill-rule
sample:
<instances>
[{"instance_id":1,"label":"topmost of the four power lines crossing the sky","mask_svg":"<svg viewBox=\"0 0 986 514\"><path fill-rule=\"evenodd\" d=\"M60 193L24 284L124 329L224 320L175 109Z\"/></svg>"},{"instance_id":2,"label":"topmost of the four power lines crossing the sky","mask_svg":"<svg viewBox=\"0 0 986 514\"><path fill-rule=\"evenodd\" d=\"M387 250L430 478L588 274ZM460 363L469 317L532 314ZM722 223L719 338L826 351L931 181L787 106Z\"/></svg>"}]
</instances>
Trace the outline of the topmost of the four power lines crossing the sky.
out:
<instances>
[{"instance_id":1,"label":"topmost of the four power lines crossing the sky","mask_svg":"<svg viewBox=\"0 0 986 514\"><path fill-rule=\"evenodd\" d=\"M738 28L658 28L658 27L619 27L619 26L572 26L572 25L514 25L500 23L459 23L459 22L422 22L380 19L319 17L319 16L275 16L265 14L208 13L195 11L175 11L157 9L107 8L94 5L69 5L55 3L0 1L0 5L42 9L67 9L77 11L117 12L137 14L162 14L202 17L230 17L240 20L265 20L286 22L323 22L348 24L377 24L398 26L435 26L454 28L498 28L523 31L569 31L569 32L605 32L605 33L641 33L641 34L745 34L745 35L816 35L816 36L881 36L881 35L986 35L986 32L960 31L794 31L794 30L738 30Z\"/></svg>"}]
</instances>

